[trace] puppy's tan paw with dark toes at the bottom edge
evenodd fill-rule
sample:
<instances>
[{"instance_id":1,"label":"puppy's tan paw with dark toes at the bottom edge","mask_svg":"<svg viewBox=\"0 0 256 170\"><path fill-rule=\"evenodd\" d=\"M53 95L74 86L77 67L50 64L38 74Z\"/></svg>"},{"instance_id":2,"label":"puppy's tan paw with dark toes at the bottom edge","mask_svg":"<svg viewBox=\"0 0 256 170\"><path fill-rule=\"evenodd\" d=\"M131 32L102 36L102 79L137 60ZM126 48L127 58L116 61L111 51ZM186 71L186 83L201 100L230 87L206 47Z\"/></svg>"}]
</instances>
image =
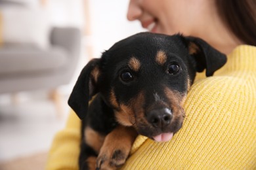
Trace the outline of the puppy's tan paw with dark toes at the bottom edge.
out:
<instances>
[{"instance_id":1,"label":"puppy's tan paw with dark toes at the bottom edge","mask_svg":"<svg viewBox=\"0 0 256 170\"><path fill-rule=\"evenodd\" d=\"M117 169L125 163L129 155L129 150L114 149L102 151L96 159L96 169Z\"/></svg>"}]
</instances>

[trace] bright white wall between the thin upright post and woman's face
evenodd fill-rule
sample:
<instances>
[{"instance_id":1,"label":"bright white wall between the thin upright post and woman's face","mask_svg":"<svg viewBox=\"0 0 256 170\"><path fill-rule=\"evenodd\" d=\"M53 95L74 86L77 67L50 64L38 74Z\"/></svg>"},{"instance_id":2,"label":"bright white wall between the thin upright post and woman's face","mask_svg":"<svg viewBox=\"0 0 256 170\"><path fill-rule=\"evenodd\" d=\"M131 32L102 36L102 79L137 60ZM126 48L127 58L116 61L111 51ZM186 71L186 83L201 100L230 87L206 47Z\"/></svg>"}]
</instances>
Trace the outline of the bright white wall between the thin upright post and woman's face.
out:
<instances>
[{"instance_id":1,"label":"bright white wall between the thin upright post and woman's face","mask_svg":"<svg viewBox=\"0 0 256 170\"><path fill-rule=\"evenodd\" d=\"M126 18L127 0L91 0L91 28L95 56L115 42L142 30L139 22Z\"/></svg>"}]
</instances>

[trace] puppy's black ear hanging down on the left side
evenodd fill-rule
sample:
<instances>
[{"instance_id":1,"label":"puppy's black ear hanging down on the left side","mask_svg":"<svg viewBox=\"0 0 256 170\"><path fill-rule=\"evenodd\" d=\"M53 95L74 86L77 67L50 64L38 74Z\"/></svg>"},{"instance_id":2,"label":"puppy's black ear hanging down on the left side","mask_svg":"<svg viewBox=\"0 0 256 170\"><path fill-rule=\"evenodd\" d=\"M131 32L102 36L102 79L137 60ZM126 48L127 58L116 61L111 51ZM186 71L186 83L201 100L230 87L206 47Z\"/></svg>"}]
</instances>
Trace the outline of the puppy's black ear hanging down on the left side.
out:
<instances>
[{"instance_id":1,"label":"puppy's black ear hanging down on the left side","mask_svg":"<svg viewBox=\"0 0 256 170\"><path fill-rule=\"evenodd\" d=\"M100 59L92 59L85 65L68 99L68 105L70 105L81 119L85 118L89 101L98 91L99 63Z\"/></svg>"}]
</instances>

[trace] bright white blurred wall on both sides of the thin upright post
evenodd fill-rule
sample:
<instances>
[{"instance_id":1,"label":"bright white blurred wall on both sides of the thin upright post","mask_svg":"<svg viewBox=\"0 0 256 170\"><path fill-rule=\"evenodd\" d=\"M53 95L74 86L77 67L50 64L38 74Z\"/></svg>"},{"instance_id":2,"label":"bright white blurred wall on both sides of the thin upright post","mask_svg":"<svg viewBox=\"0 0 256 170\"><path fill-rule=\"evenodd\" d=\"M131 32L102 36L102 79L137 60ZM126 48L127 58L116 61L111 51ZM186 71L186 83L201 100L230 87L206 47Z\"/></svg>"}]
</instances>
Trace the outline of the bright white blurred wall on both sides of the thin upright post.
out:
<instances>
[{"instance_id":1,"label":"bright white blurred wall on both sides of the thin upright post","mask_svg":"<svg viewBox=\"0 0 256 170\"><path fill-rule=\"evenodd\" d=\"M89 12L85 11L89 4ZM93 46L93 56L100 57L101 52L129 35L145 31L139 22L129 22L126 18L128 0L48 0L47 9L53 25L75 25L91 28L91 36L85 36L84 46ZM85 22L89 13L91 23ZM85 51L86 53L86 51Z\"/></svg>"}]
</instances>

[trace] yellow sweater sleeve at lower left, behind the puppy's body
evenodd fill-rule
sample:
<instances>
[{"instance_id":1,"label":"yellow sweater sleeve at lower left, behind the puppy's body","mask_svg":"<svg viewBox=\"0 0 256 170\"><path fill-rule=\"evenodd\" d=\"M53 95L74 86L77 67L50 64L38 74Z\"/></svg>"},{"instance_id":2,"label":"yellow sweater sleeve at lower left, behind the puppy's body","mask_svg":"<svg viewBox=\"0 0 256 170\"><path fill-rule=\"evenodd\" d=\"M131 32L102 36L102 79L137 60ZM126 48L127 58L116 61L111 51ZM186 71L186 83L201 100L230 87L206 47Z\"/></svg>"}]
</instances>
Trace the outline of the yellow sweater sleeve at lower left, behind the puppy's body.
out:
<instances>
[{"instance_id":1,"label":"yellow sweater sleeve at lower left, behind the puppy's body","mask_svg":"<svg viewBox=\"0 0 256 170\"><path fill-rule=\"evenodd\" d=\"M66 127L56 133L46 164L47 170L78 169L81 140L81 120L72 110Z\"/></svg>"}]
</instances>

